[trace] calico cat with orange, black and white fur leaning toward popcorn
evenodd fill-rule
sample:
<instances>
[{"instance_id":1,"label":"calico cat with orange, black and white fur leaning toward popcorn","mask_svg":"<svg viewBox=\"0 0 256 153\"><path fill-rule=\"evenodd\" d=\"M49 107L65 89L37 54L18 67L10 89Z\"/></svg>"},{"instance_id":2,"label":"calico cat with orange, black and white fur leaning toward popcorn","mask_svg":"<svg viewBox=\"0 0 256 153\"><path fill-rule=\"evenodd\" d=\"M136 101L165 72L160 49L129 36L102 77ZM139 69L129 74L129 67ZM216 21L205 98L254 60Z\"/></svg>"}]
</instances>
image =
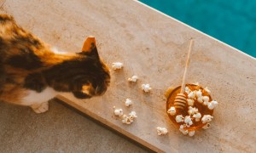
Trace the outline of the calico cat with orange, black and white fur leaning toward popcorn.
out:
<instances>
[{"instance_id":1,"label":"calico cat with orange, black and white fur leaning toward popcorn","mask_svg":"<svg viewBox=\"0 0 256 153\"><path fill-rule=\"evenodd\" d=\"M99 57L94 37L86 39L80 53L58 54L17 26L12 16L0 14L1 101L42 113L56 94L70 92L88 99L104 94L109 82L108 66Z\"/></svg>"}]
</instances>

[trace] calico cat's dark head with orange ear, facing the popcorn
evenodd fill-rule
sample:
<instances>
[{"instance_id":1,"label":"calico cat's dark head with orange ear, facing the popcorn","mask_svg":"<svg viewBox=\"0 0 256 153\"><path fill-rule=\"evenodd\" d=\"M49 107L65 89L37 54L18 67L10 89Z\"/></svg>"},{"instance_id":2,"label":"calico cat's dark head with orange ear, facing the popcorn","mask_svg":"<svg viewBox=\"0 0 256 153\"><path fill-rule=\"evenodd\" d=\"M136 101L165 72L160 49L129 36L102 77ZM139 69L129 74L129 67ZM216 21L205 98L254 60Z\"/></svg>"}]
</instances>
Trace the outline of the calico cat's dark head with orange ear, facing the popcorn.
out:
<instances>
[{"instance_id":1,"label":"calico cat's dark head with orange ear, facing the popcorn","mask_svg":"<svg viewBox=\"0 0 256 153\"><path fill-rule=\"evenodd\" d=\"M98 54L95 37L88 37L78 54L84 64L84 73L73 77L74 96L83 99L104 94L110 83L110 74Z\"/></svg>"}]
</instances>

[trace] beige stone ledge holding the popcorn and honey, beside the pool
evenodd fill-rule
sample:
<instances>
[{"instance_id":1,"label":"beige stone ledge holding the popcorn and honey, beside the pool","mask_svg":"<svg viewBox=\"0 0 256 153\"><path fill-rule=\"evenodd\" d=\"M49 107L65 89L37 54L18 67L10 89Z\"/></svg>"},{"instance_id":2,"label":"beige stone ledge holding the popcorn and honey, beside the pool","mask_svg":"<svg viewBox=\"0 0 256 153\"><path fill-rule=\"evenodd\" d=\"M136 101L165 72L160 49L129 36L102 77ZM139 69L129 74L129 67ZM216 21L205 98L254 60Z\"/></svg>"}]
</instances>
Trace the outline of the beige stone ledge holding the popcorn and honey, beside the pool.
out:
<instances>
[{"instance_id":1,"label":"beige stone ledge holding the popcorn and honey, beside the pool","mask_svg":"<svg viewBox=\"0 0 256 153\"><path fill-rule=\"evenodd\" d=\"M8 0L1 12L13 14L45 42L71 52L78 52L84 38L94 35L109 66L124 63L123 70L111 71L111 86L102 97L58 96L97 121L155 151L256 151L256 60L252 57L136 1ZM190 37L195 46L187 81L209 87L219 102L212 127L193 138L183 136L169 121L164 96L166 88L182 82ZM135 84L127 82L132 75L139 77ZM152 86L150 94L142 92L142 83ZM124 105L126 98L134 101L130 108ZM123 124L113 116L113 105L125 114L136 111L135 122ZM155 127L167 127L169 133L158 136Z\"/></svg>"}]
</instances>

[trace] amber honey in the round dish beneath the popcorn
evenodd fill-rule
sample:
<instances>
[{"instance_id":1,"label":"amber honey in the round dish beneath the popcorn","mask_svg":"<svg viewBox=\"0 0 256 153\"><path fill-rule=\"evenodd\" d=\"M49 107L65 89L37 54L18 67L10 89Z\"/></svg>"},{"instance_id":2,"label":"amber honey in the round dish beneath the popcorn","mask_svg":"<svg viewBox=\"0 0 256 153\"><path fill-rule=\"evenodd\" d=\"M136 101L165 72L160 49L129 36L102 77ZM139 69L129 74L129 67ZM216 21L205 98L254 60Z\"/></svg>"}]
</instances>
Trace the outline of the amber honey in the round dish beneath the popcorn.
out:
<instances>
[{"instance_id":1,"label":"amber honey in the round dish beneath the popcorn","mask_svg":"<svg viewBox=\"0 0 256 153\"><path fill-rule=\"evenodd\" d=\"M188 87L191 91L199 90L201 89L202 96L208 96L209 99L208 101L212 101L211 95L207 92L206 89L201 88L198 85L195 84L186 84L186 87ZM177 94L180 93L181 86L174 88L172 92L169 94L167 97L167 102L166 102L166 111L168 111L171 107L174 107L174 99L176 98ZM168 92L168 91L167 91ZM188 94L185 92L185 96L188 98ZM192 107L195 107L198 109L198 112L201 113L201 117L205 115L211 115L213 113L213 110L208 109L207 105L203 105L203 103L198 102L197 99L194 99L195 103ZM189 116L189 105L187 104L183 109L176 109L176 115L172 116L171 114L167 113L171 121L179 128L181 125L184 124L184 122L176 122L176 116L177 115L182 115L183 117ZM199 122L195 122L195 118L191 116L193 124L190 125L189 127L184 126L184 130L188 131L196 131L207 125L207 123L202 123L201 120Z\"/></svg>"}]
</instances>

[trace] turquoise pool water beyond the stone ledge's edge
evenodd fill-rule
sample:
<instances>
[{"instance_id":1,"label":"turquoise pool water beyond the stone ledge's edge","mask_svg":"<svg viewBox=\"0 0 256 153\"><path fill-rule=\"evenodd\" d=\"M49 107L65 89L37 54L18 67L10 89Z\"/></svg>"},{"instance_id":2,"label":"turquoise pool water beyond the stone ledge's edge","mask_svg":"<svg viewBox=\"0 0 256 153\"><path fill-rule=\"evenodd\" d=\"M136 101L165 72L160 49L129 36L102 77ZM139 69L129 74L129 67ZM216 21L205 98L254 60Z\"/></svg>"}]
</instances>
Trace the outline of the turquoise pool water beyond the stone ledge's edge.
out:
<instances>
[{"instance_id":1,"label":"turquoise pool water beyond the stone ledge's edge","mask_svg":"<svg viewBox=\"0 0 256 153\"><path fill-rule=\"evenodd\" d=\"M256 57L255 0L140 0Z\"/></svg>"}]
</instances>

